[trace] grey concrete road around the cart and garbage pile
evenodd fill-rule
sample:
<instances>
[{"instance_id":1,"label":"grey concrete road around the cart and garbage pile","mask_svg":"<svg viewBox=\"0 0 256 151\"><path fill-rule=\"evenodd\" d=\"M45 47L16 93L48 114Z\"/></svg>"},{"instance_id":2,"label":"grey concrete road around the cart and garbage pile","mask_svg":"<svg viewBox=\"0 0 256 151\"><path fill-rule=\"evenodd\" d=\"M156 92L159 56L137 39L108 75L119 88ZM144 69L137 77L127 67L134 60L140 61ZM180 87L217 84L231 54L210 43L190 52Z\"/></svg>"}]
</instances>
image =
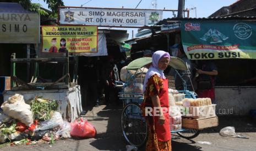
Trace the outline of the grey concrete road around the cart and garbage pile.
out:
<instances>
[{"instance_id":1,"label":"grey concrete road around the cart and garbage pile","mask_svg":"<svg viewBox=\"0 0 256 151\"><path fill-rule=\"evenodd\" d=\"M29 146L2 147L0 150L126 150L121 127L122 106L99 106L91 108L84 117L97 129L97 137L85 140L59 140L55 144L38 143ZM235 126L236 132L246 138L221 137L219 131L226 126ZM211 144L199 144L207 141ZM256 123L249 117L219 117L219 126L201 131L192 140L173 134L172 150L256 150Z\"/></svg>"}]
</instances>

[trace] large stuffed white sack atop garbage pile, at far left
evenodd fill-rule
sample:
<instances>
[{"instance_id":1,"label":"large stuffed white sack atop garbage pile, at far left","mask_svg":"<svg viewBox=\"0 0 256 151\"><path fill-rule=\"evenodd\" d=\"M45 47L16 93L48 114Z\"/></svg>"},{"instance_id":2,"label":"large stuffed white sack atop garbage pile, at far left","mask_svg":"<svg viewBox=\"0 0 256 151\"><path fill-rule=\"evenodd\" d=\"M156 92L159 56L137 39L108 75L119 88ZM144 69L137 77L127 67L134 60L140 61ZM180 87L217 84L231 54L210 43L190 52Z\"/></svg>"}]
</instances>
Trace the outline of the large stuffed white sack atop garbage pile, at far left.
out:
<instances>
[{"instance_id":1,"label":"large stuffed white sack atop garbage pile, at far left","mask_svg":"<svg viewBox=\"0 0 256 151\"><path fill-rule=\"evenodd\" d=\"M9 100L4 102L1 108L4 114L20 120L26 126L30 126L33 123L33 114L30 111L30 105L25 103L23 95L15 94L9 97Z\"/></svg>"}]
</instances>

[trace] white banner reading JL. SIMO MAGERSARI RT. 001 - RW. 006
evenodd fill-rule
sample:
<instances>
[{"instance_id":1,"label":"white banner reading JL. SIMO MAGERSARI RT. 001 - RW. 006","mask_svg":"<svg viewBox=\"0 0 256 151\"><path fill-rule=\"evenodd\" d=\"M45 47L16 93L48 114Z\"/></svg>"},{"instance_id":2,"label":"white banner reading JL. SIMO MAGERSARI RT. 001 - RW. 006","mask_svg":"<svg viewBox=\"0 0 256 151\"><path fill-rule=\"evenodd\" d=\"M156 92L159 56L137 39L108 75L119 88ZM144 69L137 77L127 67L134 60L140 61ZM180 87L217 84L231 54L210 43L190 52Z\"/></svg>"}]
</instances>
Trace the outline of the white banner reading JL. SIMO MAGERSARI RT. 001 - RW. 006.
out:
<instances>
[{"instance_id":1,"label":"white banner reading JL. SIMO MAGERSARI RT. 001 - RW. 006","mask_svg":"<svg viewBox=\"0 0 256 151\"><path fill-rule=\"evenodd\" d=\"M117 8L60 8L61 25L149 26L162 20L163 10Z\"/></svg>"}]
</instances>

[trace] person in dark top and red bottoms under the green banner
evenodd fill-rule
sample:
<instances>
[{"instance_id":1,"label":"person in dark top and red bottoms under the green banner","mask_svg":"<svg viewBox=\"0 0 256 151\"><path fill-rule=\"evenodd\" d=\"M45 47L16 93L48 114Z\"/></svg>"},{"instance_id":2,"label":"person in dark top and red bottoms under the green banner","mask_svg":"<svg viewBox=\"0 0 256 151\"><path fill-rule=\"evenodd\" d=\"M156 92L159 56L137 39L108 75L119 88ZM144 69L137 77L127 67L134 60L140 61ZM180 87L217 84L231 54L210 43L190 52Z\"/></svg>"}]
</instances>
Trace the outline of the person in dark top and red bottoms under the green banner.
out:
<instances>
[{"instance_id":1,"label":"person in dark top and red bottoms under the green banner","mask_svg":"<svg viewBox=\"0 0 256 151\"><path fill-rule=\"evenodd\" d=\"M218 75L217 67L214 64L213 61L205 61L201 60L199 61L199 67L197 69L197 75L195 76L198 77L198 81L200 80L206 80L211 83L211 88L205 89L205 88L200 88L201 86L197 85L197 94L198 97L209 97L211 98L211 102L213 104L216 104L215 100L215 81L216 81L216 75Z\"/></svg>"}]
</instances>

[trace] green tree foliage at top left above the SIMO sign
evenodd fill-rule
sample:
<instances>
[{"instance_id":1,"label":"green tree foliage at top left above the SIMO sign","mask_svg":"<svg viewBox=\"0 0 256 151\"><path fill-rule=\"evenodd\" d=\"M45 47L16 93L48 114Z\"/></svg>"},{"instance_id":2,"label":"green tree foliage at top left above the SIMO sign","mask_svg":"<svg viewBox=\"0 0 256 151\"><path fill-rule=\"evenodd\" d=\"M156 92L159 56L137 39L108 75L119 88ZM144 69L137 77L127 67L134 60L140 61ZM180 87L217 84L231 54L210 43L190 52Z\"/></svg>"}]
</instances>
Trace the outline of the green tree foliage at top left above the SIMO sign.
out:
<instances>
[{"instance_id":1,"label":"green tree foliage at top left above the SIMO sign","mask_svg":"<svg viewBox=\"0 0 256 151\"><path fill-rule=\"evenodd\" d=\"M41 15L53 15L57 14L58 7L63 6L64 3L62 0L41 0L48 4L48 8L52 10L53 14L48 14L45 10L40 9L41 5L36 3L31 3L31 0L2 0L1 2L11 2L11 3L20 3L25 9L30 11L36 11Z\"/></svg>"}]
</instances>

